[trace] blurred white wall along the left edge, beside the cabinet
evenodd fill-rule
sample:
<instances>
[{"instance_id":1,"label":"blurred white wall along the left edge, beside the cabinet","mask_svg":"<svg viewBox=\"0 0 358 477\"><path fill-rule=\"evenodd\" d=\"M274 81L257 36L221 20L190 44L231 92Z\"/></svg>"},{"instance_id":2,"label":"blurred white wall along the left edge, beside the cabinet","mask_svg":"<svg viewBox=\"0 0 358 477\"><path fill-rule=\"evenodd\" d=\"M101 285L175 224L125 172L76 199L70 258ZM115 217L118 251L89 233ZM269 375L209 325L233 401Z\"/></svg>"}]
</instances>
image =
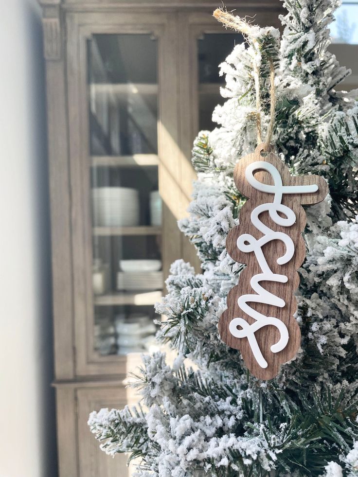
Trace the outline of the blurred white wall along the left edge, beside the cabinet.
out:
<instances>
[{"instance_id":1,"label":"blurred white wall along the left edge, beside the cabinet","mask_svg":"<svg viewBox=\"0 0 358 477\"><path fill-rule=\"evenodd\" d=\"M56 475L41 33L0 1L0 477Z\"/></svg>"}]
</instances>

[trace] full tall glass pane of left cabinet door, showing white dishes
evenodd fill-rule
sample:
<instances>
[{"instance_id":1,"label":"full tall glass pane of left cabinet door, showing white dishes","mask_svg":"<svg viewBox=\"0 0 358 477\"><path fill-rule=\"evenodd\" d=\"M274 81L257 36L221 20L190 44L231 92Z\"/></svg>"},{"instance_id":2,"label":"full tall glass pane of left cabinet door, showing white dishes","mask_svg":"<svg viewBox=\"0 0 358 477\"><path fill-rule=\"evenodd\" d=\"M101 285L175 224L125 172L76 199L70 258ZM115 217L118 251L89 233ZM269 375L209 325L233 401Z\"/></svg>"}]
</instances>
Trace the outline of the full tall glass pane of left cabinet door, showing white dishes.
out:
<instances>
[{"instance_id":1,"label":"full tall glass pane of left cabinet door, showing white dishes","mask_svg":"<svg viewBox=\"0 0 358 477\"><path fill-rule=\"evenodd\" d=\"M161 298L157 47L150 35L93 35L90 101L93 348L153 351Z\"/></svg>"}]
</instances>

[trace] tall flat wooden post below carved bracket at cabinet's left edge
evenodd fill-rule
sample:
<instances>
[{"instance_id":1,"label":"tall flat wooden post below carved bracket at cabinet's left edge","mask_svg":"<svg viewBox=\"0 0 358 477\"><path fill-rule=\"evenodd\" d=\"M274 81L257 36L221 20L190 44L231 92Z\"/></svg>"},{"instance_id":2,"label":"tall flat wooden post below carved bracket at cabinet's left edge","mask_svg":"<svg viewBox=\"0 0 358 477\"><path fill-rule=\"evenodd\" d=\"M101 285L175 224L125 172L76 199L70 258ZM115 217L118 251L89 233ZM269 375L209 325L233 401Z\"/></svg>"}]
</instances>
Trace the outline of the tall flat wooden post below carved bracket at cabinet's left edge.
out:
<instances>
[{"instance_id":1,"label":"tall flat wooden post below carved bracket at cabinet's left edge","mask_svg":"<svg viewBox=\"0 0 358 477\"><path fill-rule=\"evenodd\" d=\"M46 83L55 377L71 379L74 376L71 197L63 58L57 61L47 58Z\"/></svg>"}]
</instances>

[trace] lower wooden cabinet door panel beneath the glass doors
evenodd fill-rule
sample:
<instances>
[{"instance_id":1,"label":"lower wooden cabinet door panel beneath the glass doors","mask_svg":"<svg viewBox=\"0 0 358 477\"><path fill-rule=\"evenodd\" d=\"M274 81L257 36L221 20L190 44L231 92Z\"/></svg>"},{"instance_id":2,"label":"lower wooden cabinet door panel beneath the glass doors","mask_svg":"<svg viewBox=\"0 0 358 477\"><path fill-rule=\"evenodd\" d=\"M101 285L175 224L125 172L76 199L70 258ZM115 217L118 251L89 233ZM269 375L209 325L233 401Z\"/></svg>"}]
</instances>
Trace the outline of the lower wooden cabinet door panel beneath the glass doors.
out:
<instances>
[{"instance_id":1,"label":"lower wooden cabinet door panel beneath the glass doors","mask_svg":"<svg viewBox=\"0 0 358 477\"><path fill-rule=\"evenodd\" d=\"M129 477L128 456L114 458L100 450L87 424L93 410L135 405L135 390L120 381L63 382L56 385L59 477Z\"/></svg>"}]
</instances>

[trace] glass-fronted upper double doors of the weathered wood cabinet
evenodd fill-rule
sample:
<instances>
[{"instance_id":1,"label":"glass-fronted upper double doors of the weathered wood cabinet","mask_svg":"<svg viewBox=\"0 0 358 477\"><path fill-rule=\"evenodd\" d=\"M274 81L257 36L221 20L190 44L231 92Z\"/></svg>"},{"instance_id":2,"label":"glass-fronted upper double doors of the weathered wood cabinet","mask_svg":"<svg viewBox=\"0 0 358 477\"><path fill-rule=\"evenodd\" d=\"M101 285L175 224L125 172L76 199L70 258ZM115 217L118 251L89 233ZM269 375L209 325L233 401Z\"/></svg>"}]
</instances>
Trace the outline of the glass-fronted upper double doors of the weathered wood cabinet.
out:
<instances>
[{"instance_id":1,"label":"glass-fronted upper double doors of the weathered wood cabinet","mask_svg":"<svg viewBox=\"0 0 358 477\"><path fill-rule=\"evenodd\" d=\"M242 38L167 13L93 18L75 13L67 31L75 372L124 376L157 349L169 265L193 263L177 227L190 149Z\"/></svg>"}]
</instances>

